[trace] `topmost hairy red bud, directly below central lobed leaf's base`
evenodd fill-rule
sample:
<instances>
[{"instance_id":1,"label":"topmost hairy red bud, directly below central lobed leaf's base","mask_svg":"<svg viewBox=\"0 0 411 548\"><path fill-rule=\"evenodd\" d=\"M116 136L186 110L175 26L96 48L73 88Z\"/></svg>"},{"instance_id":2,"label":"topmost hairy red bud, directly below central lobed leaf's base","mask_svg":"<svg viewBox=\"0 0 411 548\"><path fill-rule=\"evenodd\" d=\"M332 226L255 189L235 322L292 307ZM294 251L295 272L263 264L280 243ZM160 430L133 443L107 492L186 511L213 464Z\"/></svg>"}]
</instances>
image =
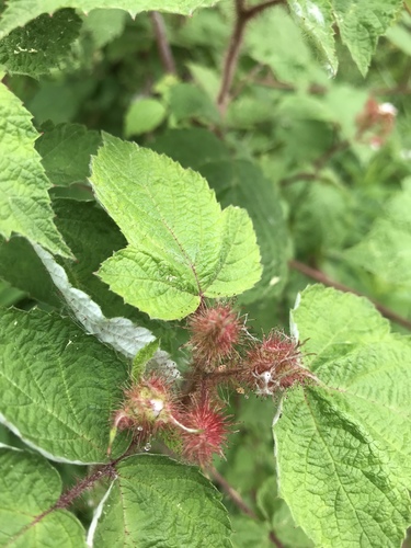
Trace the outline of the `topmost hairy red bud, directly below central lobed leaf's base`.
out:
<instances>
[{"instance_id":1,"label":"topmost hairy red bud, directly below central lobed leaf's base","mask_svg":"<svg viewBox=\"0 0 411 548\"><path fill-rule=\"evenodd\" d=\"M192 315L189 330L192 333L189 345L193 349L195 361L209 369L231 357L244 326L229 305L217 305L214 308L202 307Z\"/></svg>"}]
</instances>

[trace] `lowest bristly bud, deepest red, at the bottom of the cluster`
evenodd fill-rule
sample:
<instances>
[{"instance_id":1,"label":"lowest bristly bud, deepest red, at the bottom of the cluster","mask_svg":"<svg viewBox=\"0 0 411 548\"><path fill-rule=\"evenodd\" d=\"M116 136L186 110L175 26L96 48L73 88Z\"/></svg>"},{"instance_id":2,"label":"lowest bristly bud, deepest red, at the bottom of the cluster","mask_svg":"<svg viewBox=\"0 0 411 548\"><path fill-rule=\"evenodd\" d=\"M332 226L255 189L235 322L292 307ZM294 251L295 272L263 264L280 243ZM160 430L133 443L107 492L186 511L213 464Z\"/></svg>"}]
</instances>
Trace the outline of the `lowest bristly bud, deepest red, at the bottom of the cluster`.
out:
<instances>
[{"instance_id":1,"label":"lowest bristly bud, deepest red, at the bottom of the cluster","mask_svg":"<svg viewBox=\"0 0 411 548\"><path fill-rule=\"evenodd\" d=\"M210 464L213 455L222 456L229 430L227 418L218 404L207 396L193 400L181 422L185 425L182 455L187 461L205 467Z\"/></svg>"}]
</instances>

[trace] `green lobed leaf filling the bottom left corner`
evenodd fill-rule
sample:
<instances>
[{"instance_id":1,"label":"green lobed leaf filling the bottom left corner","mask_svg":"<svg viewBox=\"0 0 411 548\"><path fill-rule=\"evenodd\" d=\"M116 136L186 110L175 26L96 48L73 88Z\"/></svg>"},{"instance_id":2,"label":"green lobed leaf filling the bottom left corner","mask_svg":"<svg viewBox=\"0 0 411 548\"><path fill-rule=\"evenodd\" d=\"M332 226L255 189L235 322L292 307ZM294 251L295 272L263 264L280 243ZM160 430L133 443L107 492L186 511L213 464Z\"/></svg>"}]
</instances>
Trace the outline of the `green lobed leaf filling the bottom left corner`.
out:
<instances>
[{"instance_id":1,"label":"green lobed leaf filling the bottom left corner","mask_svg":"<svg viewBox=\"0 0 411 548\"><path fill-rule=\"evenodd\" d=\"M65 510L56 510L33 524L61 494L60 477L45 458L0 448L0 546L85 546L82 525Z\"/></svg>"}]
</instances>

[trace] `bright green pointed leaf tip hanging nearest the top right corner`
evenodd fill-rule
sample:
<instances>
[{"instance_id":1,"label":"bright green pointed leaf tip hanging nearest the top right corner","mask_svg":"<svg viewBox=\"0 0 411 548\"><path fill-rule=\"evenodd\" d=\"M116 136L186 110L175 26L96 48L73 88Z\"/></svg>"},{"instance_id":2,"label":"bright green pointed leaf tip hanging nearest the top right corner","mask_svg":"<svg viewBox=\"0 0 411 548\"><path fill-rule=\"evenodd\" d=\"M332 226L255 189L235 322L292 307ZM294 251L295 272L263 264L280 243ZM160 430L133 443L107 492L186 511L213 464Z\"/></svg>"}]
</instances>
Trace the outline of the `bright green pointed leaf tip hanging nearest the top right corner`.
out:
<instances>
[{"instance_id":1,"label":"bright green pointed leaf tip hanging nearest the top right corner","mask_svg":"<svg viewBox=\"0 0 411 548\"><path fill-rule=\"evenodd\" d=\"M379 36L395 22L401 0L332 0L343 43L361 73L367 73Z\"/></svg>"}]
</instances>

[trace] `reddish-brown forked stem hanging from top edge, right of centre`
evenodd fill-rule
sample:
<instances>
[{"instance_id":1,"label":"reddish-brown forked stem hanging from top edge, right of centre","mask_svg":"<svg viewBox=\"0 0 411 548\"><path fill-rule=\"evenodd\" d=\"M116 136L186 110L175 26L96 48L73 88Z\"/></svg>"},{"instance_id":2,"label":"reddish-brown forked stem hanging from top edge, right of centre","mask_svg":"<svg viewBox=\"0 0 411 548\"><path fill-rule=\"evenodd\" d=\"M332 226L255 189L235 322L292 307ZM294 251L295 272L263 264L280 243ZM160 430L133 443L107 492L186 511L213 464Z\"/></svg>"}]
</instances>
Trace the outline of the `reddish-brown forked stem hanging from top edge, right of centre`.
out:
<instances>
[{"instance_id":1,"label":"reddish-brown forked stem hanging from top edge, right of centre","mask_svg":"<svg viewBox=\"0 0 411 548\"><path fill-rule=\"evenodd\" d=\"M269 0L258 5L253 5L252 8L246 8L244 0L236 0L236 22L226 52L221 85L217 96L217 106L221 115L224 115L227 110L229 93L237 69L247 23L267 8L281 3L284 3L284 0Z\"/></svg>"}]
</instances>

